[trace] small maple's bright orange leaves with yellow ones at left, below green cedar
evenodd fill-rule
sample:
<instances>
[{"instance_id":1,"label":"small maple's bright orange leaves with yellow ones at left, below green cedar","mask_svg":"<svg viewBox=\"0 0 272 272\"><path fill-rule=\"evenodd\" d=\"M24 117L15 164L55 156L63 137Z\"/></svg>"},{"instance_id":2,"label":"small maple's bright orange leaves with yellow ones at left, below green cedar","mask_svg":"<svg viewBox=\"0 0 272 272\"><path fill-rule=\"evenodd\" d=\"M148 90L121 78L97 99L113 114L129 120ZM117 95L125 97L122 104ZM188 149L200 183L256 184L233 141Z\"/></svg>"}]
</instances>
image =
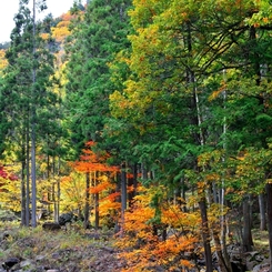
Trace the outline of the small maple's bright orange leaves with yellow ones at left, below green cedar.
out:
<instances>
[{"instance_id":1,"label":"small maple's bright orange leaves with yellow ones at left, below green cedar","mask_svg":"<svg viewBox=\"0 0 272 272\"><path fill-rule=\"evenodd\" d=\"M115 216L121 209L121 203L117 202L120 192L115 192L117 185L114 181L119 168L107 164L107 159L110 155L107 152L99 152L97 150L94 152L95 145L93 141L87 142L80 159L75 162L70 162L72 172L69 177L62 179L62 187L69 192L73 191L73 188L80 183L81 198L78 199L78 206L83 206L80 202L84 200L84 193L88 190L92 195L99 194L98 209L100 218L108 216L109 214L114 214ZM91 180L89 188L84 187L85 173L89 173ZM69 187L71 188L69 189ZM68 195L68 198L66 200L68 203L74 199L72 195ZM93 204L92 202L93 198L90 199L91 205Z\"/></svg>"}]
</instances>

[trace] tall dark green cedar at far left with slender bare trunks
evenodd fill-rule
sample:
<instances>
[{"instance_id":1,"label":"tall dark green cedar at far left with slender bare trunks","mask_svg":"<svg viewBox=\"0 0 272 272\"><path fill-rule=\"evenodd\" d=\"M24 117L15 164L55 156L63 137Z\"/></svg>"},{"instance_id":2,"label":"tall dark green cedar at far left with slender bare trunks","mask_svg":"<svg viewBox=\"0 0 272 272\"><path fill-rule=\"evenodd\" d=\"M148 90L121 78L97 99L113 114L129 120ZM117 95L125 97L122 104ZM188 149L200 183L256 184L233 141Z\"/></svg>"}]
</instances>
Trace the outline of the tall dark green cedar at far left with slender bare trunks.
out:
<instances>
[{"instance_id":1,"label":"tall dark green cedar at far left with slender bare trunks","mask_svg":"<svg viewBox=\"0 0 272 272\"><path fill-rule=\"evenodd\" d=\"M29 225L29 179L32 174L32 213L36 214L36 142L50 134L52 127L46 125L52 118L51 108L57 101L50 77L53 74L53 54L48 41L41 38L42 23L36 23L29 1L20 1L14 17L16 28L11 32L11 44L6 57L8 66L3 73L2 93L6 94L4 111L12 124L11 149L21 162L22 224ZM33 1L33 11L46 9L46 1L39 7ZM50 113L51 112L51 113ZM34 139L31 141L30 139ZM30 149L32 173L30 173ZM26 182L27 181L27 182ZM27 185L26 185L27 184ZM32 219L36 216L32 216ZM32 221L36 226L36 220Z\"/></svg>"}]
</instances>

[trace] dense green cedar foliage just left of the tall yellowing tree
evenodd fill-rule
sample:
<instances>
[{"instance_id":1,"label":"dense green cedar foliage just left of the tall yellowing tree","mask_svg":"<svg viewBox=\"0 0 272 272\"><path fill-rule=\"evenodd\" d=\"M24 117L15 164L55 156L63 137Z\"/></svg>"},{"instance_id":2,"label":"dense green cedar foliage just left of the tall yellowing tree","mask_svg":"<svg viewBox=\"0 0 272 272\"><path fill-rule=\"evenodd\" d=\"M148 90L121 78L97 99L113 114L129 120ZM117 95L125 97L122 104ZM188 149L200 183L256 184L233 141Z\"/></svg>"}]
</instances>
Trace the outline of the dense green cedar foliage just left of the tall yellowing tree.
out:
<instances>
[{"instance_id":1,"label":"dense green cedar foliage just left of the tall yellowing tree","mask_svg":"<svg viewBox=\"0 0 272 272\"><path fill-rule=\"evenodd\" d=\"M129 47L127 9L130 0L90 1L71 24L67 43L67 117L72 142L78 147L93 140L101 141L109 119L109 94L115 89L111 82L109 63L121 49Z\"/></svg>"}]
</instances>

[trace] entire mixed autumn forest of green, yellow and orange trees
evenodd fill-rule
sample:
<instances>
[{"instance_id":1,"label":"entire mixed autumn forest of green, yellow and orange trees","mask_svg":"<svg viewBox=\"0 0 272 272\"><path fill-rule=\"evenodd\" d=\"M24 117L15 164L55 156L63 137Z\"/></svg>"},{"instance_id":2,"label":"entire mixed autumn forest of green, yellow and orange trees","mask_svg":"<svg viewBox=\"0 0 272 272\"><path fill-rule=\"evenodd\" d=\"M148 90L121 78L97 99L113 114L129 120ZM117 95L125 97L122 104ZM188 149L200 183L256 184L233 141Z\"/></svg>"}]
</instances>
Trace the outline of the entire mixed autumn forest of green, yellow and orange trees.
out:
<instances>
[{"instance_id":1,"label":"entire mixed autumn forest of green, yellow and orange trees","mask_svg":"<svg viewBox=\"0 0 272 272\"><path fill-rule=\"evenodd\" d=\"M259 229L272 271L271 1L46 6L0 47L0 210L114 229L122 271L245 271Z\"/></svg>"}]
</instances>

